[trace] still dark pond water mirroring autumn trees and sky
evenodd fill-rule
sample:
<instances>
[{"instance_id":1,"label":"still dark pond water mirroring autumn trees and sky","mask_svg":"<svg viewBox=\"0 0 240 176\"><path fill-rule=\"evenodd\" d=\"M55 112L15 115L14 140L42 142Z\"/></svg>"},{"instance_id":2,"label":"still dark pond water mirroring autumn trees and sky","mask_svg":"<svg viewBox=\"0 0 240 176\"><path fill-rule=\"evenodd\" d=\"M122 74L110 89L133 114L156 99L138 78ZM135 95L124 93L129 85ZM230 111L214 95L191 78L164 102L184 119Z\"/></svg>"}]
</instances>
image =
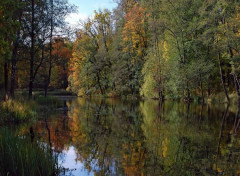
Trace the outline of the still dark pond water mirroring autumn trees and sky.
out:
<instances>
[{"instance_id":1,"label":"still dark pond water mirroring autumn trees and sky","mask_svg":"<svg viewBox=\"0 0 240 176\"><path fill-rule=\"evenodd\" d=\"M240 175L234 107L80 98L66 107L31 124L62 175Z\"/></svg>"}]
</instances>

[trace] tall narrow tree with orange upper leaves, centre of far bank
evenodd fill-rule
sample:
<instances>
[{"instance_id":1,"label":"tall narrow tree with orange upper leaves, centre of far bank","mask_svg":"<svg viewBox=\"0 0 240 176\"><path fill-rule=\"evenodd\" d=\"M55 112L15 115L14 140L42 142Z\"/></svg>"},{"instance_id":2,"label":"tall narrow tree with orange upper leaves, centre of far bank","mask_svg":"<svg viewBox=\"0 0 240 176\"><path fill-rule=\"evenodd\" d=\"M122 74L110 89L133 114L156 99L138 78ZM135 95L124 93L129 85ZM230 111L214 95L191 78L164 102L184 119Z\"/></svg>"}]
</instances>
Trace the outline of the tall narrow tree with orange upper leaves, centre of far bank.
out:
<instances>
[{"instance_id":1,"label":"tall narrow tree with orange upper leaves, centre of far bank","mask_svg":"<svg viewBox=\"0 0 240 176\"><path fill-rule=\"evenodd\" d=\"M148 47L147 16L144 8L138 3L125 16L122 45L128 71L127 87L130 88L131 94L137 94L141 87L141 71Z\"/></svg>"}]
</instances>

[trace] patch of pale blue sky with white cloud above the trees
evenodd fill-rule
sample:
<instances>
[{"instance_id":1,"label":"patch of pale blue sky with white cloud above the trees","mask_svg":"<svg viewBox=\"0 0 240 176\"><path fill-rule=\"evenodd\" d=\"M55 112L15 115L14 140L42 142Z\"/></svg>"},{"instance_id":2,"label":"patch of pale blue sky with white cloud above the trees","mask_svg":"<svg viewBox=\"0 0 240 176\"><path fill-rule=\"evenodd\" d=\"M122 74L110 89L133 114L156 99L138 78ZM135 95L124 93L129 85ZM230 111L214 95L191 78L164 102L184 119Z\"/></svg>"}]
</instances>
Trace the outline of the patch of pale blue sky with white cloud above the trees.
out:
<instances>
[{"instance_id":1,"label":"patch of pale blue sky with white cloud above the trees","mask_svg":"<svg viewBox=\"0 0 240 176\"><path fill-rule=\"evenodd\" d=\"M68 0L70 4L74 4L78 7L78 13L72 13L66 21L70 25L75 26L79 20L85 20L88 16L93 14L94 10L98 9L113 9L116 7L116 3L113 0Z\"/></svg>"}]
</instances>

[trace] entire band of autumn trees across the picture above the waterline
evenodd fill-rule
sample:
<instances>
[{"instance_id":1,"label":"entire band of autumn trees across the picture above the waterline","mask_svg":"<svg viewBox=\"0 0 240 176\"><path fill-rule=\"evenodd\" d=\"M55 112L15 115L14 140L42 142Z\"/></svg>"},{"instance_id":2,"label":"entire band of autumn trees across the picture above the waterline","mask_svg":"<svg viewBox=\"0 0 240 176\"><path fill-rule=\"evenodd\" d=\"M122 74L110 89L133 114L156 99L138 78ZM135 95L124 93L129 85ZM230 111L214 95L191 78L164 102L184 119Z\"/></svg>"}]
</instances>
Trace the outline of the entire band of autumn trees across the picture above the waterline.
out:
<instances>
[{"instance_id":1,"label":"entire band of autumn trees across the picture above the waterline","mask_svg":"<svg viewBox=\"0 0 240 176\"><path fill-rule=\"evenodd\" d=\"M65 0L0 2L0 85L78 96L240 96L240 2L119 0L69 30ZM71 31L71 32L69 32Z\"/></svg>"}]
</instances>

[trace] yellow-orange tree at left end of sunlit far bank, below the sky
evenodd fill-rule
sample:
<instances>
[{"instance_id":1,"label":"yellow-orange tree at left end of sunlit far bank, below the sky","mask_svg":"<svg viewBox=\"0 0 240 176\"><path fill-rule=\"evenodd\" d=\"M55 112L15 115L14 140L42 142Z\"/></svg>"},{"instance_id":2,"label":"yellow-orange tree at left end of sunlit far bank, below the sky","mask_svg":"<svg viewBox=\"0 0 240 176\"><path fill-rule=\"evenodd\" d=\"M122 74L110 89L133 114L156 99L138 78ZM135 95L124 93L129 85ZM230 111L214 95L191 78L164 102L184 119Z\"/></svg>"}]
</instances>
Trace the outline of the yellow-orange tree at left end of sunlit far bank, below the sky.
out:
<instances>
[{"instance_id":1,"label":"yellow-orange tree at left end of sunlit far bank, below the sky","mask_svg":"<svg viewBox=\"0 0 240 176\"><path fill-rule=\"evenodd\" d=\"M72 62L77 62L78 67L76 68L76 65L72 67L70 82L75 79L72 77L74 72L80 71L81 89L78 93L84 95L99 91L103 95L111 86L109 81L109 70L112 65L109 55L112 42L110 12L108 10L95 12L94 18L89 19L83 28L77 33L77 41L74 44ZM72 86L74 84L76 83Z\"/></svg>"}]
</instances>

